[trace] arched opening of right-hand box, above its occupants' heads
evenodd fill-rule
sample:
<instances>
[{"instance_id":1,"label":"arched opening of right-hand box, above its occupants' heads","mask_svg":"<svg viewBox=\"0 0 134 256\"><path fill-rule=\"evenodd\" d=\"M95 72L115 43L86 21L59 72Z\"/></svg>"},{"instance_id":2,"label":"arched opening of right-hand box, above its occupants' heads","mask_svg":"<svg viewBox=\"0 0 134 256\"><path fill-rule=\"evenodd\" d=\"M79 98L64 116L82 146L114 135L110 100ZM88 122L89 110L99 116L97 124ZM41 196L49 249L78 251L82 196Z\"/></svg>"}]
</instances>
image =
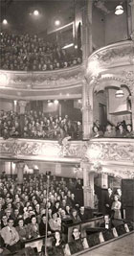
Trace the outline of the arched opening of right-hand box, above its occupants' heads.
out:
<instances>
[{"instance_id":1,"label":"arched opening of right-hand box, above its occupants' heads","mask_svg":"<svg viewBox=\"0 0 134 256\"><path fill-rule=\"evenodd\" d=\"M120 92L122 95L120 95ZM125 121L132 125L131 93L126 84L116 84L116 81L101 82L95 87L93 93L93 117L94 122L100 121L105 129L107 124L117 126Z\"/></svg>"}]
</instances>

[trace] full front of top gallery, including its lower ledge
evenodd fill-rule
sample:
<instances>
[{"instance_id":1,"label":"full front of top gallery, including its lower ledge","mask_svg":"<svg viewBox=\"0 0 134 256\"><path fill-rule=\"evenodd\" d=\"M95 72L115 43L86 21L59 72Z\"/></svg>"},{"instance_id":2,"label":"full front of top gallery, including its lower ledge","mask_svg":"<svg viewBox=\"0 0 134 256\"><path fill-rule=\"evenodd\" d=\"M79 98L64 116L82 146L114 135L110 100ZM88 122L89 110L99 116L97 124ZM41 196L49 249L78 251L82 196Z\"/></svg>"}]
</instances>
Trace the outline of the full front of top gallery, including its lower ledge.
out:
<instances>
[{"instance_id":1,"label":"full front of top gallery, including its lower ledge","mask_svg":"<svg viewBox=\"0 0 134 256\"><path fill-rule=\"evenodd\" d=\"M48 95L76 93L81 88L84 67L77 65L70 68L54 71L26 72L26 71L0 71L1 97L11 99L44 100ZM78 92L77 92L78 93ZM80 92L79 92L80 93Z\"/></svg>"}]
</instances>

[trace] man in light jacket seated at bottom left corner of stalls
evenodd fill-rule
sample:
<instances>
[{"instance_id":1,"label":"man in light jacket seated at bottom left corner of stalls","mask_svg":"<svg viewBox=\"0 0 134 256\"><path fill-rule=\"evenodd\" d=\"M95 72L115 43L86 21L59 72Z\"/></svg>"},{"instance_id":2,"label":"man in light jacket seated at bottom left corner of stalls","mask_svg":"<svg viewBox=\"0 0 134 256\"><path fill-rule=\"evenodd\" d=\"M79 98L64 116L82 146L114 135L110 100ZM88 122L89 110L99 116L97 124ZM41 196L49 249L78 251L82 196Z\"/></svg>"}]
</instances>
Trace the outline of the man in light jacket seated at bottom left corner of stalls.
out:
<instances>
[{"instance_id":1,"label":"man in light jacket seated at bottom left corner of stalls","mask_svg":"<svg viewBox=\"0 0 134 256\"><path fill-rule=\"evenodd\" d=\"M1 236L6 244L7 249L11 252L16 251L19 248L19 235L16 229L13 227L13 219L9 218L8 226L2 228Z\"/></svg>"}]
</instances>

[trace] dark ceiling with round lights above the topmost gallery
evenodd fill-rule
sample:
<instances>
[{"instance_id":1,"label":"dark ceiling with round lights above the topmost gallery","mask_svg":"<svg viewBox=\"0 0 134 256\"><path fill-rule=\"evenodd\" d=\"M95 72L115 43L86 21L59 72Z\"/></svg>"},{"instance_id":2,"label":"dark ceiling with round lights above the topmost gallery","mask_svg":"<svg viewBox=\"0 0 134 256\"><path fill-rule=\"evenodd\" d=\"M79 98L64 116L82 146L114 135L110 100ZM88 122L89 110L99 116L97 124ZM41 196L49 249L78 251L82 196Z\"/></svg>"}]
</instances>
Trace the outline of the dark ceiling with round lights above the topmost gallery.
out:
<instances>
[{"instance_id":1,"label":"dark ceiling with round lights above the topmost gallery","mask_svg":"<svg viewBox=\"0 0 134 256\"><path fill-rule=\"evenodd\" d=\"M85 0L77 0L83 5ZM48 28L55 28L59 19L61 26L74 20L75 0L3 0L1 1L1 18L7 16L9 31L38 34L46 33ZM34 16L33 11L39 15Z\"/></svg>"}]
</instances>

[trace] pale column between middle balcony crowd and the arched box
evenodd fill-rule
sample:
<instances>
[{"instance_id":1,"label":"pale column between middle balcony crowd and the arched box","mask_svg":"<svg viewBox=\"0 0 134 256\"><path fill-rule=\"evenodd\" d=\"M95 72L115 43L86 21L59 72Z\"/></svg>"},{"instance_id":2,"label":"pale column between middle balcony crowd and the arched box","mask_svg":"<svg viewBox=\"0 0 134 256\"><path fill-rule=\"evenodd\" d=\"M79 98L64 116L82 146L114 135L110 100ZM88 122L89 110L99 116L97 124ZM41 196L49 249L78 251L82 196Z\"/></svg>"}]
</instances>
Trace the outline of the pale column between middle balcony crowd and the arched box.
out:
<instances>
[{"instance_id":1,"label":"pale column between middle balcony crowd and the arched box","mask_svg":"<svg viewBox=\"0 0 134 256\"><path fill-rule=\"evenodd\" d=\"M82 126L83 139L89 139L93 127L93 91L87 81L82 85Z\"/></svg>"}]
</instances>

